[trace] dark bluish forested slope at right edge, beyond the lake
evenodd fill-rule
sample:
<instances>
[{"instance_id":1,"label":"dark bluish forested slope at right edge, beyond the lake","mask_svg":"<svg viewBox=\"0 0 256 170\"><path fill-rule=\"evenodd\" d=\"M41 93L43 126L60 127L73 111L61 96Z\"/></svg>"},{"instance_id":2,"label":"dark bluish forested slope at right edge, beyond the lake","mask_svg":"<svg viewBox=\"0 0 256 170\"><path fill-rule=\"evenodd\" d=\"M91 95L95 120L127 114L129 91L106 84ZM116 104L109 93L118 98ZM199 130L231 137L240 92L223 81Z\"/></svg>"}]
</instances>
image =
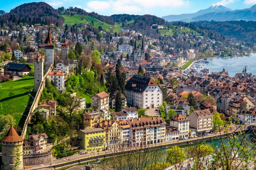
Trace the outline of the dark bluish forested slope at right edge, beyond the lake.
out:
<instances>
[{"instance_id":1,"label":"dark bluish forested slope at right edge, beyond the lake","mask_svg":"<svg viewBox=\"0 0 256 170\"><path fill-rule=\"evenodd\" d=\"M202 28L215 30L229 38L256 43L256 21L197 21L192 23Z\"/></svg>"}]
</instances>

